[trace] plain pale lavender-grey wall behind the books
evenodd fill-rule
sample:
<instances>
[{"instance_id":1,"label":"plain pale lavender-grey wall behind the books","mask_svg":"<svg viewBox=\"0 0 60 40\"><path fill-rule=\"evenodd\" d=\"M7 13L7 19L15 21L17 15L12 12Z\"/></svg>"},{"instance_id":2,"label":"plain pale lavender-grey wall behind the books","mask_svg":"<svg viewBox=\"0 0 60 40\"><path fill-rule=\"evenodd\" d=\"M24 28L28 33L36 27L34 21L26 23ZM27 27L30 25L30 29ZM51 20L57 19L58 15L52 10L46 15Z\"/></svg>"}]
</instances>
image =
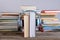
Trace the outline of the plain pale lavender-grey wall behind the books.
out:
<instances>
[{"instance_id":1,"label":"plain pale lavender-grey wall behind the books","mask_svg":"<svg viewBox=\"0 0 60 40\"><path fill-rule=\"evenodd\" d=\"M35 5L40 11L60 10L60 0L0 0L0 12L20 12L21 5Z\"/></svg>"}]
</instances>

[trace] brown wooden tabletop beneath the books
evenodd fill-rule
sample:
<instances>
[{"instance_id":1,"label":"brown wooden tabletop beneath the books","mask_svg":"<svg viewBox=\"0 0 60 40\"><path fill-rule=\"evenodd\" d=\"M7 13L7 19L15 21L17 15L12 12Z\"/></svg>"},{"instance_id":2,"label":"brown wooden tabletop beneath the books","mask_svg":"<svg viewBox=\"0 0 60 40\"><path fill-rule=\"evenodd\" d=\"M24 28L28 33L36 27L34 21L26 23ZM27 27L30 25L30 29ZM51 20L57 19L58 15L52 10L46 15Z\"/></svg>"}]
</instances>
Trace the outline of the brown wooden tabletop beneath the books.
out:
<instances>
[{"instance_id":1,"label":"brown wooden tabletop beneath the books","mask_svg":"<svg viewBox=\"0 0 60 40\"><path fill-rule=\"evenodd\" d=\"M60 32L37 32L35 38L24 38L21 32L0 32L0 40L60 40Z\"/></svg>"}]
</instances>

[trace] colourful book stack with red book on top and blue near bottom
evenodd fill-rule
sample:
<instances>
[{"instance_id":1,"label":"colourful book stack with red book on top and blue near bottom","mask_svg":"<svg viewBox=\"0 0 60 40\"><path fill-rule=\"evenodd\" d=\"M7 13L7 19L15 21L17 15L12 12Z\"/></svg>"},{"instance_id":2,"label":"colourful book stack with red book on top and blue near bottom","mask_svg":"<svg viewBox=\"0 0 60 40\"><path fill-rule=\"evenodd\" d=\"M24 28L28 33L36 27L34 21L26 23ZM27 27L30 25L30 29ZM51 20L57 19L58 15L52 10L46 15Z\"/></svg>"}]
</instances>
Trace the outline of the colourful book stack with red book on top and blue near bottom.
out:
<instances>
[{"instance_id":1,"label":"colourful book stack with red book on top and blue near bottom","mask_svg":"<svg viewBox=\"0 0 60 40\"><path fill-rule=\"evenodd\" d=\"M41 11L41 20L43 20L44 31L53 31L55 27L60 26L60 21L56 18L57 10L43 10Z\"/></svg>"}]
</instances>

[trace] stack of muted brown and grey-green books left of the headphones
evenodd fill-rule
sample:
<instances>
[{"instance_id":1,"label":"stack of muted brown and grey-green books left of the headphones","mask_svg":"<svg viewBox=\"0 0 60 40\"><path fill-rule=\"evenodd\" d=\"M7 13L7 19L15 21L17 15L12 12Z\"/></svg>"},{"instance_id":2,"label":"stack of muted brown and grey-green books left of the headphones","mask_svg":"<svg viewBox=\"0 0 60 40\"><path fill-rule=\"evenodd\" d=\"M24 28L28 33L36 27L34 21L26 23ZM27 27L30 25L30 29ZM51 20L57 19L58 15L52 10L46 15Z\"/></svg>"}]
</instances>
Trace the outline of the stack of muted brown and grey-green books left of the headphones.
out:
<instances>
[{"instance_id":1,"label":"stack of muted brown and grey-green books left of the headphones","mask_svg":"<svg viewBox=\"0 0 60 40\"><path fill-rule=\"evenodd\" d=\"M17 31L18 13L0 13L0 31Z\"/></svg>"}]
</instances>

